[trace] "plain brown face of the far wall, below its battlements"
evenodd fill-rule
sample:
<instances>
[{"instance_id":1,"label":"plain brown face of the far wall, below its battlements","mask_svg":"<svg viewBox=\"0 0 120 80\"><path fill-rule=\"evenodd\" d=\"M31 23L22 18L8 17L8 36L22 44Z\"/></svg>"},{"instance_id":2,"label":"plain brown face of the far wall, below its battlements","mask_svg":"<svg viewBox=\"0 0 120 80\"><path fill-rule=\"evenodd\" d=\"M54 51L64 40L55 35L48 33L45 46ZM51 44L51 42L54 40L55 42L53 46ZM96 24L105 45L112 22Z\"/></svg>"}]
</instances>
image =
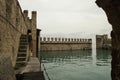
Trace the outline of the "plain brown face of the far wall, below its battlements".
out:
<instances>
[{"instance_id":1,"label":"plain brown face of the far wall, below its battlements","mask_svg":"<svg viewBox=\"0 0 120 80\"><path fill-rule=\"evenodd\" d=\"M85 44L65 44L65 43L50 43L50 44L41 44L41 51L54 51L54 50L86 50L91 49L90 43Z\"/></svg>"}]
</instances>

